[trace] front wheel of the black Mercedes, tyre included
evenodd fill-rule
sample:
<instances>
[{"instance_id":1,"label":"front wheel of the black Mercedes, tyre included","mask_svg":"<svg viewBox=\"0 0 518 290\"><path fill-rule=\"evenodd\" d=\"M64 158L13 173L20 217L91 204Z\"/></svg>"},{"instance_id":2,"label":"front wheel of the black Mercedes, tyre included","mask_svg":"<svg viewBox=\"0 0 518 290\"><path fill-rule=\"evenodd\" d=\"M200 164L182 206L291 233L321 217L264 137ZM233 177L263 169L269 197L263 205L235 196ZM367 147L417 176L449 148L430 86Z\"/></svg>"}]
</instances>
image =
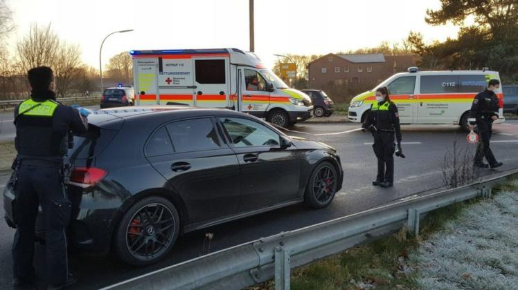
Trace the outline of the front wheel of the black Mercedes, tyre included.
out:
<instances>
[{"instance_id":1,"label":"front wheel of the black Mercedes, tyre included","mask_svg":"<svg viewBox=\"0 0 518 290\"><path fill-rule=\"evenodd\" d=\"M314 169L310 181L307 182L304 202L314 209L328 206L337 192L338 174L332 164L325 161Z\"/></svg>"}]
</instances>

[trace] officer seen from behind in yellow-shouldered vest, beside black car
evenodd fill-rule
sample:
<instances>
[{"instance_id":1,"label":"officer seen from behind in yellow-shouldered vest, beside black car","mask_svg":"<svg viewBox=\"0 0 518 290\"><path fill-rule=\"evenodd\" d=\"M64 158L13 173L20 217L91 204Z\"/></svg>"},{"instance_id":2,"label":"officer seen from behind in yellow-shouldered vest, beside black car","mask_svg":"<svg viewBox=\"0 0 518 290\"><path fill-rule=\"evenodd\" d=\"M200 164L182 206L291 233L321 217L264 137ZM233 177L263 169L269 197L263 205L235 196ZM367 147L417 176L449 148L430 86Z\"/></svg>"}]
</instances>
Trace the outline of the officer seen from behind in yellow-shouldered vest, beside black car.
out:
<instances>
[{"instance_id":1,"label":"officer seen from behind in yellow-shouldered vest, beside black car","mask_svg":"<svg viewBox=\"0 0 518 290\"><path fill-rule=\"evenodd\" d=\"M87 131L88 113L55 101L51 68L30 69L28 80L31 97L15 108L18 155L11 181L15 181L12 211L17 229L12 245L12 284L26 287L35 280L35 219L41 206L46 241L44 275L49 289L62 289L75 282L66 256L65 229L71 203L64 186L63 157L68 149L69 132Z\"/></svg>"}]
</instances>

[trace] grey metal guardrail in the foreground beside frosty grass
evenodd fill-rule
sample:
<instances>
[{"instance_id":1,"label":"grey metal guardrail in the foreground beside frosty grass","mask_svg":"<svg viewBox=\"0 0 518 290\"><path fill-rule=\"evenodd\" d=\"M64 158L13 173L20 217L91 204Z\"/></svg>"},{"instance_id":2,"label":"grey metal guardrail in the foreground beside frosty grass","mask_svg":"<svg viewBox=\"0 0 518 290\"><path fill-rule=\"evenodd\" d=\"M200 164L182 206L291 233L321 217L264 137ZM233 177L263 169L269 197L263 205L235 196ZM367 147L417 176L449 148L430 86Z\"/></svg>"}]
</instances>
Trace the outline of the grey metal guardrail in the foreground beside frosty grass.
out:
<instances>
[{"instance_id":1,"label":"grey metal guardrail in the foreground beside frosty grass","mask_svg":"<svg viewBox=\"0 0 518 290\"><path fill-rule=\"evenodd\" d=\"M496 182L518 170L457 189L430 193L343 218L279 233L172 265L104 289L242 289L275 277L289 289L290 269L393 233L407 224L419 233L422 215L443 206L491 195ZM104 290L103 289L103 290Z\"/></svg>"}]
</instances>

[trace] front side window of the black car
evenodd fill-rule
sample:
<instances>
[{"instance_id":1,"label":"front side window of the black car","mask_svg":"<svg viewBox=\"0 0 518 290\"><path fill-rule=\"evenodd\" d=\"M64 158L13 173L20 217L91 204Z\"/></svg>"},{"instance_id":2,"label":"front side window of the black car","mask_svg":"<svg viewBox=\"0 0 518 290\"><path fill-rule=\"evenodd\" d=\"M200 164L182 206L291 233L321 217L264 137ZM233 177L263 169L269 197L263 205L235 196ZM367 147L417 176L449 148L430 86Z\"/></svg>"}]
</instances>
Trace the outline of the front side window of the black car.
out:
<instances>
[{"instance_id":1,"label":"front side window of the black car","mask_svg":"<svg viewBox=\"0 0 518 290\"><path fill-rule=\"evenodd\" d=\"M234 146L279 146L280 137L266 126L248 119L220 118Z\"/></svg>"}]
</instances>

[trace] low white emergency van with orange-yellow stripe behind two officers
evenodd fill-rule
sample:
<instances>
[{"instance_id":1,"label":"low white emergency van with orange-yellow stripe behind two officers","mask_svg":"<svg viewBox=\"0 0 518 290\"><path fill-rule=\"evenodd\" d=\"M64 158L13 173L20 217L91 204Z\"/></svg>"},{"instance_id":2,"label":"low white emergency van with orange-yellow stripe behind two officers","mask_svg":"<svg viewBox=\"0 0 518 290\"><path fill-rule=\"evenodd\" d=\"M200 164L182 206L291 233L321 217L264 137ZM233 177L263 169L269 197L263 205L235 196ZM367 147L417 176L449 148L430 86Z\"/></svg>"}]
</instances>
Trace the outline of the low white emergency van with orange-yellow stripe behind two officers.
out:
<instances>
[{"instance_id":1,"label":"low white emergency van with orange-yellow stripe behind two officers","mask_svg":"<svg viewBox=\"0 0 518 290\"><path fill-rule=\"evenodd\" d=\"M398 105L401 124L456 124L467 130L473 98L488 86L490 79L500 79L499 73L490 70L419 71L412 67L389 77L381 84L354 97L348 118L364 122L375 102L375 90L386 86L391 100ZM499 119L503 123L503 93L499 98Z\"/></svg>"}]
</instances>

